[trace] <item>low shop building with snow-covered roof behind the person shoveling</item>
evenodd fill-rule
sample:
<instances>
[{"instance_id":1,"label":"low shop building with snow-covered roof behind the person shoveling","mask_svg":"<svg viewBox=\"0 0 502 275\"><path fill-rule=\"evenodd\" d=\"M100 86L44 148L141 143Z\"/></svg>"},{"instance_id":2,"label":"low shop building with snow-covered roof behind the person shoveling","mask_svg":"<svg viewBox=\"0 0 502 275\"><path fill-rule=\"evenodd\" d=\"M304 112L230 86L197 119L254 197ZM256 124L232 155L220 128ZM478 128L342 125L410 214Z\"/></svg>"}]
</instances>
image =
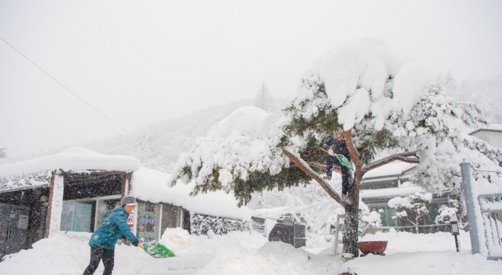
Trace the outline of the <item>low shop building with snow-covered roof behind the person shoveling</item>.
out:
<instances>
[{"instance_id":1,"label":"low shop building with snow-covered roof behind the person shoveling","mask_svg":"<svg viewBox=\"0 0 502 275\"><path fill-rule=\"evenodd\" d=\"M166 228L250 230L250 209L230 194L191 197L191 185L169 188L168 177L136 158L84 148L0 165L0 259L55 233L94 232L125 194L138 200L128 225L140 242L159 240Z\"/></svg>"}]
</instances>

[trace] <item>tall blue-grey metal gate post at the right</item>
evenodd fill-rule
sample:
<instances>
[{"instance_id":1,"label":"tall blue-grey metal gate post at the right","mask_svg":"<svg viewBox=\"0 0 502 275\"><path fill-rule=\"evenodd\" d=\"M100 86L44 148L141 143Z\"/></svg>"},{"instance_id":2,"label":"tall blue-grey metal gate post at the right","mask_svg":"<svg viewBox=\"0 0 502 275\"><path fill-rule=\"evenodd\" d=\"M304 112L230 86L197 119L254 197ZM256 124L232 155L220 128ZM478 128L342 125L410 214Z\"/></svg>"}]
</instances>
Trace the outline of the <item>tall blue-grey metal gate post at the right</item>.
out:
<instances>
[{"instance_id":1,"label":"tall blue-grey metal gate post at the right","mask_svg":"<svg viewBox=\"0 0 502 275\"><path fill-rule=\"evenodd\" d=\"M471 236L472 254L479 254L479 235L476 221L476 208L474 206L474 194L471 186L471 163L464 160L460 163L460 172L462 172L462 188L464 189L465 206L467 218L469 219L469 235Z\"/></svg>"}]
</instances>

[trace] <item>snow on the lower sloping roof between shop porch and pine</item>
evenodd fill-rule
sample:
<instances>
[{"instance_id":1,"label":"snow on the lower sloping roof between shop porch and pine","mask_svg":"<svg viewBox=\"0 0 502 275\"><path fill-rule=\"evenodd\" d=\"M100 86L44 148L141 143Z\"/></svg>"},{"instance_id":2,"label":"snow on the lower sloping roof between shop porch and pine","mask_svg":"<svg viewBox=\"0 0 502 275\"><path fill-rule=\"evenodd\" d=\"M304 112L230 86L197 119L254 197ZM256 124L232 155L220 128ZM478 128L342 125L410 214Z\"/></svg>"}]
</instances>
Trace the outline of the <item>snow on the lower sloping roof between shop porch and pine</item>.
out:
<instances>
[{"instance_id":1,"label":"snow on the lower sloping roof between shop porch and pine","mask_svg":"<svg viewBox=\"0 0 502 275\"><path fill-rule=\"evenodd\" d=\"M232 194L223 191L208 192L190 197L193 182L184 185L178 182L174 187L167 187L169 174L141 167L133 173L131 195L153 203L164 202L182 206L184 209L211 216L225 216L249 220L251 211L247 206L238 207L238 201Z\"/></svg>"}]
</instances>

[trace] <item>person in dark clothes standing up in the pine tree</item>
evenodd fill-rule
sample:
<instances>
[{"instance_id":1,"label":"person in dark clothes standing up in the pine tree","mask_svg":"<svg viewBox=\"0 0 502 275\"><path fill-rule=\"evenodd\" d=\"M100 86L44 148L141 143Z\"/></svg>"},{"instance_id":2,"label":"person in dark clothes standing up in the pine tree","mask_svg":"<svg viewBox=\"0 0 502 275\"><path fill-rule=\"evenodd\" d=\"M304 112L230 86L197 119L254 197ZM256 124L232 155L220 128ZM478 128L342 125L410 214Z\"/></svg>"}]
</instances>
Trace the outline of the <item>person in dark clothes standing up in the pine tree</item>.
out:
<instances>
[{"instance_id":1,"label":"person in dark clothes standing up in the pine tree","mask_svg":"<svg viewBox=\"0 0 502 275\"><path fill-rule=\"evenodd\" d=\"M333 165L340 166L340 169L342 170L342 195L346 196L352 174L350 173L350 170L343 166L338 158L335 157L335 154L339 154L345 156L345 158L350 161L349 149L345 143L345 131L342 129L333 131L333 136L323 144L323 148L329 152L328 156L326 156L326 176L324 179L331 180Z\"/></svg>"}]
</instances>

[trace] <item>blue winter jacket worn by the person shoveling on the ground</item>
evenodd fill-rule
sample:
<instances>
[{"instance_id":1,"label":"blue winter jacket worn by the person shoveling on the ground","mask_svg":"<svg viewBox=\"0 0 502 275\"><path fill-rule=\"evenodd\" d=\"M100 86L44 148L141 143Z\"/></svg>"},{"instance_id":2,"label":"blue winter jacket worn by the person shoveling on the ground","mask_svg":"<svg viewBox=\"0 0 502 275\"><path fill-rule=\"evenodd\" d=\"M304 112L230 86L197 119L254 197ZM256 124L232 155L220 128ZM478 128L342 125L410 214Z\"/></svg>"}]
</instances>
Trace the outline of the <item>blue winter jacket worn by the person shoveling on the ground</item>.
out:
<instances>
[{"instance_id":1,"label":"blue winter jacket worn by the person shoveling on the ground","mask_svg":"<svg viewBox=\"0 0 502 275\"><path fill-rule=\"evenodd\" d=\"M101 226L92 233L89 245L97 245L108 250L114 250L119 238L127 238L130 242L137 240L127 226L128 216L129 213L125 211L123 206L117 206L113 209L111 215L101 223Z\"/></svg>"}]
</instances>

